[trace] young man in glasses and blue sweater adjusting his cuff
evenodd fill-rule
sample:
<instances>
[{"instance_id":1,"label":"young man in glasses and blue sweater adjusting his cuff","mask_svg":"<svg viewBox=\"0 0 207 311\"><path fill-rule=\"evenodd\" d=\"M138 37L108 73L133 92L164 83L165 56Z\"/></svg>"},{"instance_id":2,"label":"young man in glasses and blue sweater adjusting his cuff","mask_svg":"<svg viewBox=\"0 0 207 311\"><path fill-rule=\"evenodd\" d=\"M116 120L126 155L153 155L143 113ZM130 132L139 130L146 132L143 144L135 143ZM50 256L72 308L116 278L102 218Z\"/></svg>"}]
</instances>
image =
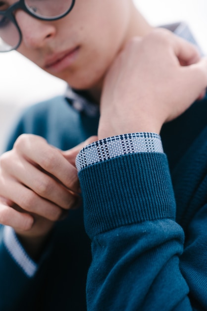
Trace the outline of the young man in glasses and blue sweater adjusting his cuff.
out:
<instances>
[{"instance_id":1,"label":"young man in glasses and blue sweater adjusting his cuff","mask_svg":"<svg viewBox=\"0 0 207 311\"><path fill-rule=\"evenodd\" d=\"M0 310L206 310L207 60L131 0L0 10L0 50L73 89L0 158Z\"/></svg>"}]
</instances>

